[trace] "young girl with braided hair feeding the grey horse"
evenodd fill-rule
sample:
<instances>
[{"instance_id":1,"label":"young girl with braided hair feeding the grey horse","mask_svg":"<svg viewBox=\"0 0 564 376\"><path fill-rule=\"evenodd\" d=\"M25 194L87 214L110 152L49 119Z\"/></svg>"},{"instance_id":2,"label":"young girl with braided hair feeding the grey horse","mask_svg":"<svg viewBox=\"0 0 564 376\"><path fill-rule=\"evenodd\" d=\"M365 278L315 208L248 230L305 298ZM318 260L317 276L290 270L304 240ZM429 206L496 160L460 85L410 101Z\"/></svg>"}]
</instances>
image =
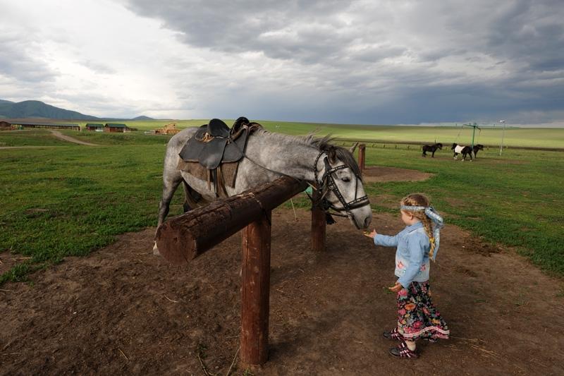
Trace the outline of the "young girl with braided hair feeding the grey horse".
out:
<instances>
[{"instance_id":1,"label":"young girl with braided hair feeding the grey horse","mask_svg":"<svg viewBox=\"0 0 564 376\"><path fill-rule=\"evenodd\" d=\"M376 234L368 236L374 244L397 247L396 277L389 289L397 293L398 326L384 332L386 339L398 339L399 346L390 353L399 358L417 358L417 339L436 341L448 339L450 332L441 314L431 302L429 289L429 258L439 250L439 229L443 219L429 206L424 195L413 194L401 200L401 219L407 225L396 236Z\"/></svg>"}]
</instances>

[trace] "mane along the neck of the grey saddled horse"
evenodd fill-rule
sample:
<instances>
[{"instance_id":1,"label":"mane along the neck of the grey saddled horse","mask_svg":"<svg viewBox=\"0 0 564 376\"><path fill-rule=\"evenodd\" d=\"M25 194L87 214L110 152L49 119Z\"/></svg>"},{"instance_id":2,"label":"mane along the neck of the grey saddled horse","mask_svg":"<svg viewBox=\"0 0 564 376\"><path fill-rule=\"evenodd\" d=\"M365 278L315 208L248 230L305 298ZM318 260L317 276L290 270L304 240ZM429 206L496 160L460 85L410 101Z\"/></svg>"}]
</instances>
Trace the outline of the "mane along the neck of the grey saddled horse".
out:
<instances>
[{"instance_id":1,"label":"mane along the neck of the grey saddled horse","mask_svg":"<svg viewBox=\"0 0 564 376\"><path fill-rule=\"evenodd\" d=\"M326 135L323 138L316 138L312 133L309 135L285 135L283 133L272 133L266 131L266 129L258 129L255 134L262 135L264 137L275 138L276 141L283 143L284 145L306 145L316 147L320 152L326 152L327 154L334 153L335 157L346 166L348 166L356 176L362 176L360 173L360 167L357 164L357 160L353 153L344 147L331 145L331 141L334 138L331 135Z\"/></svg>"}]
</instances>

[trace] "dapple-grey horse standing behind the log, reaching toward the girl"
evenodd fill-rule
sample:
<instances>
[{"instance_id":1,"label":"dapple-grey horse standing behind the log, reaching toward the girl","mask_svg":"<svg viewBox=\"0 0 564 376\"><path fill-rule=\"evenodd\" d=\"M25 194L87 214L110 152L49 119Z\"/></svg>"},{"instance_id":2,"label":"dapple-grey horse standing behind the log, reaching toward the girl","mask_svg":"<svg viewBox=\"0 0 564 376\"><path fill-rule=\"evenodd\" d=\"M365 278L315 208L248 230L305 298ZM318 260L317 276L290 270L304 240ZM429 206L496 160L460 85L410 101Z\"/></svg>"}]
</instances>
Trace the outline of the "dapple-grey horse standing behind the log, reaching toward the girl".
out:
<instances>
[{"instance_id":1,"label":"dapple-grey horse standing behind the log, reaching toward the girl","mask_svg":"<svg viewBox=\"0 0 564 376\"><path fill-rule=\"evenodd\" d=\"M207 181L177 169L180 159L178 153L197 128L185 128L168 141L164 158L163 192L159 203L158 224L160 226L168 214L169 205L176 188L183 183L185 197L199 193L204 200L216 199L214 185L208 188ZM329 144L329 137L314 138L312 135L292 136L271 133L259 129L250 135L245 157L240 161L235 187L226 186L228 195L237 195L262 183L274 181L283 175L307 181L314 186L319 184L327 166L331 168L331 181L338 192L329 190L326 200L333 210L345 214L357 229L367 229L372 220L372 209L365 198L357 205L345 207L350 202L364 198L364 186L360 169L353 157L353 150ZM317 174L317 177L316 177ZM341 198L338 197L341 195ZM190 200L188 200L190 201ZM154 253L158 254L157 244Z\"/></svg>"}]
</instances>

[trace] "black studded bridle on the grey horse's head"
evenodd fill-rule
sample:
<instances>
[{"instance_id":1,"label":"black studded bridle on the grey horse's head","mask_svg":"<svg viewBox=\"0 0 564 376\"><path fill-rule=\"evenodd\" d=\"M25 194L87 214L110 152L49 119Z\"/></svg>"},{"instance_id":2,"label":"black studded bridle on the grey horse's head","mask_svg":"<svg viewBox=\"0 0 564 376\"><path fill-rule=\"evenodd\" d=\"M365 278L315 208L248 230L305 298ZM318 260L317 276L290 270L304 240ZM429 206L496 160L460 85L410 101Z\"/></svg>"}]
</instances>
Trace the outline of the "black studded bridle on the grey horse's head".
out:
<instances>
[{"instance_id":1,"label":"black studded bridle on the grey horse's head","mask_svg":"<svg viewBox=\"0 0 564 376\"><path fill-rule=\"evenodd\" d=\"M317 158L315 159L313 165L315 184L317 185L317 187L314 187L314 189L317 190L317 200L312 199L313 205L319 207L321 210L323 210L326 213L329 213L329 209L333 209L337 213L332 213L332 214L338 215L340 217L348 217L349 215L352 215L352 213L350 212L351 210L356 209L357 207L363 207L365 205L369 205L370 202L368 200L367 195L357 198L358 181L359 180L362 181L362 178L361 176L358 176L356 173L354 173L354 170L353 173L355 174L356 177L354 200L347 202L343 197L343 194L339 190L337 184L335 183L335 178L333 178L333 174L336 171L348 168L346 164L341 164L341 166L332 167L331 164L329 164L329 158L327 157L327 155L325 155L323 159L323 162L325 164L324 174L321 176L320 179L317 178L319 174L319 171L317 170L317 163L319 162L319 158L321 158L321 155L323 154L325 154L325 152L320 152L317 155ZM343 205L343 207L336 207L335 205L333 205L332 202L327 200L326 195L330 191L333 192L334 195L336 195L336 197L338 198L339 202L341 202L341 205ZM342 212L346 212L347 214L341 214Z\"/></svg>"}]
</instances>

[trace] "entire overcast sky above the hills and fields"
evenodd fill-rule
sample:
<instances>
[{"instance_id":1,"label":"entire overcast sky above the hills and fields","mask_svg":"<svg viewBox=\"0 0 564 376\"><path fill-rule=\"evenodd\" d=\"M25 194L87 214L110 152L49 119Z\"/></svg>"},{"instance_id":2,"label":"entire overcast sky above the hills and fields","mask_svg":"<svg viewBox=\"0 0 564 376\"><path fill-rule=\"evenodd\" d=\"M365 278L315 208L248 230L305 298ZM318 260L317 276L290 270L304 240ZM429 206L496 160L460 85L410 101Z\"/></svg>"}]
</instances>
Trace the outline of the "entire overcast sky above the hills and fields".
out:
<instances>
[{"instance_id":1,"label":"entire overcast sky above the hills and fields","mask_svg":"<svg viewBox=\"0 0 564 376\"><path fill-rule=\"evenodd\" d=\"M0 0L0 99L94 116L564 125L564 3Z\"/></svg>"}]
</instances>

